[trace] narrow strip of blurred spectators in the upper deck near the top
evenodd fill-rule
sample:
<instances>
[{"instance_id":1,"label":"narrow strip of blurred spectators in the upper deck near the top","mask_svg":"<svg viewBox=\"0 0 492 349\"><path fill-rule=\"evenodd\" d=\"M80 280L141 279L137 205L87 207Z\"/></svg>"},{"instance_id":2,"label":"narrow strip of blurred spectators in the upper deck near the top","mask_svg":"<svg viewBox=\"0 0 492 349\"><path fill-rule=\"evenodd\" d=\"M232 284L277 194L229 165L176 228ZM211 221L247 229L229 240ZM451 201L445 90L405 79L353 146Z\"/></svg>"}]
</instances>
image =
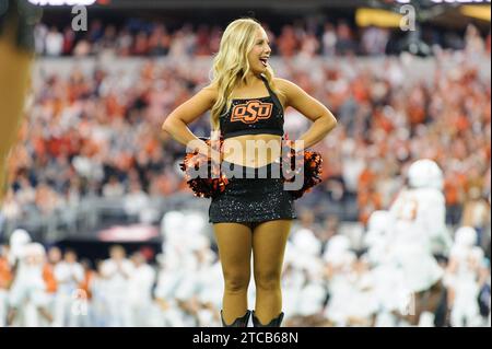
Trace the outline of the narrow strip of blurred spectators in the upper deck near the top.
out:
<instances>
[{"instance_id":1,"label":"narrow strip of blurred spectators in the upper deck near the top","mask_svg":"<svg viewBox=\"0 0 492 349\"><path fill-rule=\"evenodd\" d=\"M271 27L262 23L272 43L272 55L292 57L297 53L314 56L384 55L403 49L405 37L400 31L382 27L358 27L349 21L320 21L312 18ZM36 28L36 51L39 55L91 56L112 54L127 56L210 56L219 49L219 25L185 23L180 27L167 27L162 23L128 20L125 24L91 21L87 32L79 34L70 26L40 24ZM465 35L457 31L425 28L424 42L446 49L462 49L467 40L479 35L470 26ZM490 32L484 45L490 50Z\"/></svg>"}]
</instances>

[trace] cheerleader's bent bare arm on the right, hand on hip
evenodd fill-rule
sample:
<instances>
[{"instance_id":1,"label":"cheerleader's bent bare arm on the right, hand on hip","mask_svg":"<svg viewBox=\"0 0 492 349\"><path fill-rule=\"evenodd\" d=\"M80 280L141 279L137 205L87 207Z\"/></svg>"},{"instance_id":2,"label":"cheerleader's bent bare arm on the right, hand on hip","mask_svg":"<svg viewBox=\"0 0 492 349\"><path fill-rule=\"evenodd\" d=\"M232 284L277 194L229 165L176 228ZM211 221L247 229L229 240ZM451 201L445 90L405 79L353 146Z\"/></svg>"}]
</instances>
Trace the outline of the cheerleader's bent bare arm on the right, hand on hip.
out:
<instances>
[{"instance_id":1,"label":"cheerleader's bent bare arm on the right, hand on hip","mask_svg":"<svg viewBox=\"0 0 492 349\"><path fill-rule=\"evenodd\" d=\"M331 112L303 89L284 79L276 79L276 82L286 96L285 105L292 106L313 121L311 128L296 140L296 142L304 142L304 144L297 143L296 150L313 147L337 126L337 119Z\"/></svg>"}]
</instances>

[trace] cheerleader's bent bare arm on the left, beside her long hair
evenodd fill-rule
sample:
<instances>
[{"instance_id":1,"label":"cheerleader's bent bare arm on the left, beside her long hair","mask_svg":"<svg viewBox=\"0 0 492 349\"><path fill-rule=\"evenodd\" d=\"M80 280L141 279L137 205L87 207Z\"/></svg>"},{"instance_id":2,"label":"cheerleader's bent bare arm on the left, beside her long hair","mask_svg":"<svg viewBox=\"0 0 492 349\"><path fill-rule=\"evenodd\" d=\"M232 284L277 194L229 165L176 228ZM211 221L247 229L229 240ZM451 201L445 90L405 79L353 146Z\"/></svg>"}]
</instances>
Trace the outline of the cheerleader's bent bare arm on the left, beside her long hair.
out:
<instances>
[{"instance_id":1,"label":"cheerleader's bent bare arm on the left, beside her long hair","mask_svg":"<svg viewBox=\"0 0 492 349\"><path fill-rule=\"evenodd\" d=\"M174 109L165 119L162 129L187 147L188 150L198 150L203 155L210 155L210 147L195 136L187 125L209 110L215 103L215 98L216 90L212 85L203 88L195 96Z\"/></svg>"}]
</instances>

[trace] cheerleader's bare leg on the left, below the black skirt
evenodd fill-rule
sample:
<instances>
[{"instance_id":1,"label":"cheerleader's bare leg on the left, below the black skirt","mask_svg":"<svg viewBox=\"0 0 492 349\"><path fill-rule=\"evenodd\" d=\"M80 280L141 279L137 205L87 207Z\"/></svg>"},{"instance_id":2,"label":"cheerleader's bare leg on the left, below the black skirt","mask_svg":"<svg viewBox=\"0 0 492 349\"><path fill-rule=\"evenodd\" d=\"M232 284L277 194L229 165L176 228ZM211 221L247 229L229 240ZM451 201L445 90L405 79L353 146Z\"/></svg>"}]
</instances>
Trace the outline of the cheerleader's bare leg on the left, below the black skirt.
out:
<instances>
[{"instance_id":1,"label":"cheerleader's bare leg on the left, below the black skirt","mask_svg":"<svg viewBox=\"0 0 492 349\"><path fill-rule=\"evenodd\" d=\"M242 223L215 223L213 230L224 275L223 319L229 325L247 312L251 276L251 230Z\"/></svg>"}]
</instances>

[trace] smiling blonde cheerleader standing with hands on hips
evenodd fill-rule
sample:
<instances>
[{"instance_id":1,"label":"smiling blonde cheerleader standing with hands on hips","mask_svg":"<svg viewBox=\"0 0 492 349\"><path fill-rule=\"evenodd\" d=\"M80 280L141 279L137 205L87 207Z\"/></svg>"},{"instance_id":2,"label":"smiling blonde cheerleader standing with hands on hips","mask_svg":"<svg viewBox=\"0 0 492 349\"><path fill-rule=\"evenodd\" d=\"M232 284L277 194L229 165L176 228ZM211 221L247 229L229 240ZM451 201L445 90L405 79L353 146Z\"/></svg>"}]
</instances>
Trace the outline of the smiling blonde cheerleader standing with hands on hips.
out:
<instances>
[{"instance_id":1,"label":"smiling blonde cheerleader standing with hands on hips","mask_svg":"<svg viewBox=\"0 0 492 349\"><path fill-rule=\"evenodd\" d=\"M285 108L293 107L313 121L296 141L296 151L323 140L337 124L321 103L297 85L273 78L270 54L268 36L255 20L232 22L213 60L211 84L173 110L163 124L178 142L212 159L224 159L222 168L234 173L209 209L225 281L223 326L247 326L251 253L256 284L253 324L280 327L282 323L281 270L291 222L296 218L293 197L273 175L281 158ZM187 127L209 109L212 138L219 135L223 139L220 154Z\"/></svg>"}]
</instances>

